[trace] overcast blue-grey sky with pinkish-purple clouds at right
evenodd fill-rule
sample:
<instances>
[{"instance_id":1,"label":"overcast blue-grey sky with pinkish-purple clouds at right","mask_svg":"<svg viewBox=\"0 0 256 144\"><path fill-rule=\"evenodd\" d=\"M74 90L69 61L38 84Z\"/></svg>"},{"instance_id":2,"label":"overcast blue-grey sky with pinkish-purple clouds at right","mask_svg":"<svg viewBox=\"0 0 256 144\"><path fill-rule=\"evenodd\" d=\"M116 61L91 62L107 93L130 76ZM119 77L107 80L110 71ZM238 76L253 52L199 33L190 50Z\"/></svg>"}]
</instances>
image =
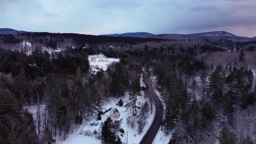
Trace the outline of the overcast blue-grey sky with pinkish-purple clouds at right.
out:
<instances>
[{"instance_id":1,"label":"overcast blue-grey sky with pinkish-purple clouds at right","mask_svg":"<svg viewBox=\"0 0 256 144\"><path fill-rule=\"evenodd\" d=\"M0 0L0 27L112 34L226 31L256 36L256 0Z\"/></svg>"}]
</instances>

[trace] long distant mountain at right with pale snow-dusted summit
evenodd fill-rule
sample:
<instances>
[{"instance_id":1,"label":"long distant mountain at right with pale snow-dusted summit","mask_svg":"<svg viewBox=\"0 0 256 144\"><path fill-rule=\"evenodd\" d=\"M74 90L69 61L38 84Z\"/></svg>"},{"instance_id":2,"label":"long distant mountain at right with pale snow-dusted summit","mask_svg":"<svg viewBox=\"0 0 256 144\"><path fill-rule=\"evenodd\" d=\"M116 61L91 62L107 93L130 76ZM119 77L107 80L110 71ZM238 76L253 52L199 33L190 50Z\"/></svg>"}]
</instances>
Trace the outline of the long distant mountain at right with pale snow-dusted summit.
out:
<instances>
[{"instance_id":1,"label":"long distant mountain at right with pale snow-dusted summit","mask_svg":"<svg viewBox=\"0 0 256 144\"><path fill-rule=\"evenodd\" d=\"M213 42L213 43L233 43L236 41L250 41L251 38L238 37L234 34L217 31L217 32L206 32L206 33L194 33L194 34L158 34L153 35L150 38L160 38L160 39L177 39L177 40L197 40L203 42Z\"/></svg>"}]
</instances>

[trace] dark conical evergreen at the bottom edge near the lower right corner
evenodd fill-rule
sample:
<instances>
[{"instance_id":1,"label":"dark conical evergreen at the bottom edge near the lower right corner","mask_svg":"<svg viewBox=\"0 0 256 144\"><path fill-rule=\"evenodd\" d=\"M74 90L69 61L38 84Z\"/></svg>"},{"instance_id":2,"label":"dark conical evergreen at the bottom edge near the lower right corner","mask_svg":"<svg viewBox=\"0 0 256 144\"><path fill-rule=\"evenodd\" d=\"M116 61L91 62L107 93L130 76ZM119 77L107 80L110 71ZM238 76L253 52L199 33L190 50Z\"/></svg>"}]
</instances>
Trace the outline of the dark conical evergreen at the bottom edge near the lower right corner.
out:
<instances>
[{"instance_id":1,"label":"dark conical evergreen at the bottom edge near the lower right corner","mask_svg":"<svg viewBox=\"0 0 256 144\"><path fill-rule=\"evenodd\" d=\"M236 135L229 130L228 127L224 126L222 131L220 131L220 136L218 137L220 144L235 144Z\"/></svg>"}]
</instances>

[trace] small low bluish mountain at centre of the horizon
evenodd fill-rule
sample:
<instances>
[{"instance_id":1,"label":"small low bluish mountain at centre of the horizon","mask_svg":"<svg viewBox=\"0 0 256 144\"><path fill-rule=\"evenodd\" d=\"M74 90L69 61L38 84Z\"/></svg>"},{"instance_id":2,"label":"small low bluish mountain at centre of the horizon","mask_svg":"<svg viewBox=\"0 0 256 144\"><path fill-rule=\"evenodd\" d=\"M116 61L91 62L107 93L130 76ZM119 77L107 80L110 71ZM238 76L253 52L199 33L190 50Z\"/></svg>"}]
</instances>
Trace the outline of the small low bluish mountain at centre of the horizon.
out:
<instances>
[{"instance_id":1,"label":"small low bluish mountain at centre of the horizon","mask_svg":"<svg viewBox=\"0 0 256 144\"><path fill-rule=\"evenodd\" d=\"M109 37L135 37L135 38L148 38L152 37L154 34L147 32L137 32L137 33L122 33L122 34L103 34L103 36Z\"/></svg>"}]
</instances>

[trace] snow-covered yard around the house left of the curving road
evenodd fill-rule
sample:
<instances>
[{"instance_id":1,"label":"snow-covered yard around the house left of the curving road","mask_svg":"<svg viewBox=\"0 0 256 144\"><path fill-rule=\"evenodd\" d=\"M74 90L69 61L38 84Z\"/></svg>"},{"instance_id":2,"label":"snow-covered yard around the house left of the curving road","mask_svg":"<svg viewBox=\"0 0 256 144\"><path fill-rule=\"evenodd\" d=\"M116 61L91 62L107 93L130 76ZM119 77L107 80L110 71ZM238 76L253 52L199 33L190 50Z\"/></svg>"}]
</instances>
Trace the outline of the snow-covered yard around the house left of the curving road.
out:
<instances>
[{"instance_id":1,"label":"snow-covered yard around the house left of the curving road","mask_svg":"<svg viewBox=\"0 0 256 144\"><path fill-rule=\"evenodd\" d=\"M101 56L103 57L103 56ZM141 80L141 85L144 82ZM108 117L112 118L113 121L121 119L120 121L120 128L123 128L125 133L122 134L119 130L117 130L116 135L118 135L121 139L122 142L126 143L127 137L128 137L128 142L130 144L138 144L143 136L147 133L150 125L153 122L154 116L155 116L155 105L153 105L153 111L150 113L150 108L148 112L148 118L146 118L146 125L143 128L143 131L141 134L138 134L138 126L137 126L137 119L139 116L139 111L141 109L137 108L137 115L133 118L136 119L136 121L133 122L134 126L131 128L131 125L127 124L127 118L132 117L132 107L131 107L131 100L129 98L128 93L125 94L123 99L124 106L118 106L117 103L119 99L106 99L104 100L104 105L102 106L102 109L106 107L112 107L112 109L108 112L106 112L104 115L101 115L101 121L96 121L97 118L97 113L94 113L94 116L88 119L86 122L83 122L80 127L74 130L74 133L68 136L68 139L65 141L57 141L56 144L80 144L80 143L92 143L92 144L100 144L101 143L101 123L103 124L104 121ZM137 101L136 101L136 106L137 107L142 107L143 104L148 101L146 97L144 97L144 92L141 91L141 95L137 96ZM150 105L149 105L150 106ZM120 113L120 117L114 118L114 110L118 109ZM93 122L98 122L99 124L97 126L90 126L91 123ZM93 132L94 130L97 131L98 134L94 135Z\"/></svg>"}]
</instances>

